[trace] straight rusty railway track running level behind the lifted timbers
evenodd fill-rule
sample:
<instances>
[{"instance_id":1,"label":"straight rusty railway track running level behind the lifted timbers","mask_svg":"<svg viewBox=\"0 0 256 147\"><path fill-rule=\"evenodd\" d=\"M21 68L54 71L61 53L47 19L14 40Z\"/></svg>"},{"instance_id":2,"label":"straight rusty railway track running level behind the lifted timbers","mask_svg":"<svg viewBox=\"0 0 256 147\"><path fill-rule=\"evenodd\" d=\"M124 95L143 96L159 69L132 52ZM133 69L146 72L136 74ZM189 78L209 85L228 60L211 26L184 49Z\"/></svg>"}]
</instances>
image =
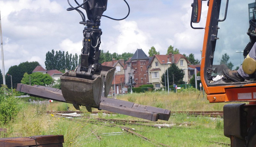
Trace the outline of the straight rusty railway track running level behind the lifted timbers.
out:
<instances>
[{"instance_id":1,"label":"straight rusty railway track running level behind the lifted timbers","mask_svg":"<svg viewBox=\"0 0 256 147\"><path fill-rule=\"evenodd\" d=\"M84 111L47 111L47 113L106 113L106 114L116 114L109 111L94 111L94 112L84 112ZM195 116L209 116L209 117L223 117L223 111L171 111L171 114L187 114Z\"/></svg>"}]
</instances>

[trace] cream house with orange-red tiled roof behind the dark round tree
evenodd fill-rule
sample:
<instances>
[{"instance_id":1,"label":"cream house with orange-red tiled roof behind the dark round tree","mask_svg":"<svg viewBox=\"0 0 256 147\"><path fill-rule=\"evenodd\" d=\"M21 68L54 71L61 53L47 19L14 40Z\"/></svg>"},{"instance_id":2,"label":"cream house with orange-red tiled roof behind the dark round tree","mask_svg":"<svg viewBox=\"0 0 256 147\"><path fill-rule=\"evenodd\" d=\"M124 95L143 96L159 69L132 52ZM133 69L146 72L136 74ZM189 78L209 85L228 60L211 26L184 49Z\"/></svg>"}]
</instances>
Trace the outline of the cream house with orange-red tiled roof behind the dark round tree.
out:
<instances>
[{"instance_id":1,"label":"cream house with orange-red tiled roof behind the dark round tree","mask_svg":"<svg viewBox=\"0 0 256 147\"><path fill-rule=\"evenodd\" d=\"M183 69L185 73L183 81L188 82L188 64L190 62L185 56L182 54L154 55L148 65L148 80L150 84L154 85L154 88L161 89L165 86L161 84L161 76L171 63L175 63L176 66Z\"/></svg>"}]
</instances>

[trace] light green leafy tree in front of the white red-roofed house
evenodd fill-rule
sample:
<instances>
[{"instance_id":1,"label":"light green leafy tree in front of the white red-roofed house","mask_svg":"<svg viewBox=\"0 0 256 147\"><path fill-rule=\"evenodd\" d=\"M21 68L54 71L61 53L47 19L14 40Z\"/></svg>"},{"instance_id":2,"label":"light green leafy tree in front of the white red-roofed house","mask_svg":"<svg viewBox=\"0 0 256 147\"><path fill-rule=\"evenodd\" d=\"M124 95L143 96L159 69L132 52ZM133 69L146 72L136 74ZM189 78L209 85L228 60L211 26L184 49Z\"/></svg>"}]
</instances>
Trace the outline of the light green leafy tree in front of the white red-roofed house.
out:
<instances>
[{"instance_id":1,"label":"light green leafy tree in front of the white red-roofed house","mask_svg":"<svg viewBox=\"0 0 256 147\"><path fill-rule=\"evenodd\" d=\"M36 85L42 85L42 86L49 86L49 85L52 85L52 83L54 82L54 79L49 74L36 72L32 74L25 73L23 75L21 83L29 85L29 77L30 77L31 85L36 84Z\"/></svg>"}]
</instances>

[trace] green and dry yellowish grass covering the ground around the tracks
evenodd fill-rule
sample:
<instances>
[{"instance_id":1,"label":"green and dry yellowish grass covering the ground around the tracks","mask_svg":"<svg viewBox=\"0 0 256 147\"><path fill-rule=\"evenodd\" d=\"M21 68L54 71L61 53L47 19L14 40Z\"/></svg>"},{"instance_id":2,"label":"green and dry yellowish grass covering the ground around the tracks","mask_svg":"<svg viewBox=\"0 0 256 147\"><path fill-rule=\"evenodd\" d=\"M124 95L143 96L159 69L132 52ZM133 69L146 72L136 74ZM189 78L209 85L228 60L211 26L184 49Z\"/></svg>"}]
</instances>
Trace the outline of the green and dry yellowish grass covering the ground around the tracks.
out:
<instances>
[{"instance_id":1,"label":"green and dry yellowish grass covering the ground around the tracks","mask_svg":"<svg viewBox=\"0 0 256 147\"><path fill-rule=\"evenodd\" d=\"M209 104L206 98L202 98L199 92L170 93L167 92L146 92L118 96L118 99L130 100L139 104L146 104L169 109L171 111L222 111L224 104ZM199 97L198 97L199 95ZM23 103L18 118L1 128L7 128L6 136L1 137L25 137L33 135L64 135L64 146L155 146L151 142L125 132L119 127L109 127L108 123L92 124L84 122L93 118L120 119L120 120L143 120L122 114L98 115L84 114L83 118L70 120L58 115L46 114L46 110L66 111L66 108L75 111L72 104L61 102L50 103L47 107L35 104ZM46 108L46 109L45 109ZM81 107L81 111L86 111ZM92 111L97 111L93 109ZM91 117L88 119L88 116ZM153 128L136 126L127 123L120 125L134 128L139 133L155 143L163 143L172 147L175 146L225 146L219 143L230 143L229 138L223 135L223 119L210 118L205 116L188 116L187 114L171 115L169 121L159 120L149 124L176 123L173 128ZM180 123L191 123L190 126L179 126ZM100 136L100 141L92 133ZM122 135L104 135L103 133L123 132ZM212 142L209 142L212 141Z\"/></svg>"}]
</instances>

